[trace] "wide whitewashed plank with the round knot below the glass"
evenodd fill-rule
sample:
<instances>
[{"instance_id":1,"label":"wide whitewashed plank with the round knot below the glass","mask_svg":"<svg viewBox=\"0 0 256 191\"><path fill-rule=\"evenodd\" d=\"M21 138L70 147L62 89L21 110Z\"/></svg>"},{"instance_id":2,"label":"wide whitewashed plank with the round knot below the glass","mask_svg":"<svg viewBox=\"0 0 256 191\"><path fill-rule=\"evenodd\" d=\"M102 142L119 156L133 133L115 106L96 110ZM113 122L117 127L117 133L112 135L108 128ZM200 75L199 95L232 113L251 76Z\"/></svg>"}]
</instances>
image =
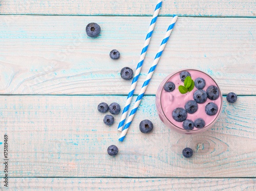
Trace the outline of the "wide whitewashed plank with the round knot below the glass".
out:
<instances>
[{"instance_id":1,"label":"wide whitewashed plank with the round knot below the glass","mask_svg":"<svg viewBox=\"0 0 256 191\"><path fill-rule=\"evenodd\" d=\"M100 102L124 103L125 96L1 96L0 150L9 137L10 177L255 177L256 96L226 103L214 127L181 135L157 116L155 96L145 96L124 140L117 126L103 124ZM147 118L150 134L139 131ZM119 154L106 153L110 145ZM194 156L182 156L185 147ZM3 152L0 152L3 159ZM0 171L3 177L3 171Z\"/></svg>"}]
</instances>

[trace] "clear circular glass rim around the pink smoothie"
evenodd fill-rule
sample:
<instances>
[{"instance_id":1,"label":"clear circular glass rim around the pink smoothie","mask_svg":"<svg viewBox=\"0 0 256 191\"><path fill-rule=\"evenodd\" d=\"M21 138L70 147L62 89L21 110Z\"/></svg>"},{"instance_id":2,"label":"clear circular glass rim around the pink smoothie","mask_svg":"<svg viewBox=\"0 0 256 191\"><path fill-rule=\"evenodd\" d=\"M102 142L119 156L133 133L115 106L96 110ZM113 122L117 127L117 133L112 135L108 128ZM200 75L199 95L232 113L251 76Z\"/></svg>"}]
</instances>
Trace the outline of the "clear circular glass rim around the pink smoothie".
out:
<instances>
[{"instance_id":1,"label":"clear circular glass rim around the pink smoothie","mask_svg":"<svg viewBox=\"0 0 256 191\"><path fill-rule=\"evenodd\" d=\"M165 113L164 113L164 111L163 111L163 108L162 108L162 92L163 92L164 85L165 85L166 82L167 82L170 78L172 78L174 75L176 75L176 74L178 74L178 73L180 73L180 72L182 72L182 71L186 71L186 70L200 71L201 73L204 73L205 75L207 75L208 77L210 77L210 78L214 81L214 83L217 85L217 87L219 88L219 92L220 92L220 96L221 96L221 107L220 107L220 109L219 109L219 111L218 111L218 114L217 114L216 117L215 117L215 120L212 121L209 125L207 125L207 126L205 126L205 127L203 127L203 128L200 128L200 129L196 128L195 130L194 130L194 129L192 129L192 130L186 130L186 129L183 129L183 128L180 128L180 127L176 126L175 124L173 124L172 122L170 122L170 120L169 120L168 117L165 115ZM165 80L165 79L164 79L164 80ZM168 122L169 122L170 124L172 124L173 126L175 126L175 127L178 128L178 129L180 129L180 130L182 130L182 131L186 131L186 132L201 131L201 130L206 129L206 128L208 128L209 126L213 125L213 124L218 120L218 118L219 118L219 116L220 116L220 113L221 113L221 110L222 110L222 105L223 105L223 97L222 97L222 93L221 93L221 90L220 90L219 85L216 83L216 81L215 81L210 75L206 74L204 71L199 70L199 69L190 69L190 68L187 68L187 69L180 69L180 70L178 70L177 72L173 73L173 74L165 81L165 83L163 84L163 87L162 87L161 93L160 93L160 106L161 106L161 110L162 110L162 112L163 112L165 118L168 120Z\"/></svg>"}]
</instances>

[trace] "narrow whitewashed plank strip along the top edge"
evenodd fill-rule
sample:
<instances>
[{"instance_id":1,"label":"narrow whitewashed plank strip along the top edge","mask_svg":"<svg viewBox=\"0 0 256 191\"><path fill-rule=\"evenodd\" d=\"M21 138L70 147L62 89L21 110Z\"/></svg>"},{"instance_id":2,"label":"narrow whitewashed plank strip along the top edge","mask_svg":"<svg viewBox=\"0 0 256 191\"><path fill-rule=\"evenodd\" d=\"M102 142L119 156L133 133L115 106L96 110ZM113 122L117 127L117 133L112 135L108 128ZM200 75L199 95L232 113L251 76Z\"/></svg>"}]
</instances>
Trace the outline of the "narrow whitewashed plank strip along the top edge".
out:
<instances>
[{"instance_id":1,"label":"narrow whitewashed plank strip along the top edge","mask_svg":"<svg viewBox=\"0 0 256 191\"><path fill-rule=\"evenodd\" d=\"M1 14L43 15L152 15L157 1L102 0L2 0ZM256 16L253 0L232 2L214 0L163 0L160 15L182 16Z\"/></svg>"}]
</instances>

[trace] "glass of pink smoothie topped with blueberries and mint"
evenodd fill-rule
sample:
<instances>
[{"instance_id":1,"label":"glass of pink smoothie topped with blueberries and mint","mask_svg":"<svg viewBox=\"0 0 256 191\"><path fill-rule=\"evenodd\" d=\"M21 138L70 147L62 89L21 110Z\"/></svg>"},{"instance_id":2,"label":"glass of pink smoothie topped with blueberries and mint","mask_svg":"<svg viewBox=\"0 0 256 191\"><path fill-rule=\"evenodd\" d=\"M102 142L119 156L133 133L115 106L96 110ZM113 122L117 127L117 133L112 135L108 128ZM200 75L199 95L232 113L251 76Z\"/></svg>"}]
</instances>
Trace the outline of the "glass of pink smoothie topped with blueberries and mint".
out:
<instances>
[{"instance_id":1,"label":"glass of pink smoothie topped with blueberries and mint","mask_svg":"<svg viewBox=\"0 0 256 191\"><path fill-rule=\"evenodd\" d=\"M185 134L195 134L211 127L220 115L222 102L217 83L195 69L169 75L156 94L161 121Z\"/></svg>"}]
</instances>

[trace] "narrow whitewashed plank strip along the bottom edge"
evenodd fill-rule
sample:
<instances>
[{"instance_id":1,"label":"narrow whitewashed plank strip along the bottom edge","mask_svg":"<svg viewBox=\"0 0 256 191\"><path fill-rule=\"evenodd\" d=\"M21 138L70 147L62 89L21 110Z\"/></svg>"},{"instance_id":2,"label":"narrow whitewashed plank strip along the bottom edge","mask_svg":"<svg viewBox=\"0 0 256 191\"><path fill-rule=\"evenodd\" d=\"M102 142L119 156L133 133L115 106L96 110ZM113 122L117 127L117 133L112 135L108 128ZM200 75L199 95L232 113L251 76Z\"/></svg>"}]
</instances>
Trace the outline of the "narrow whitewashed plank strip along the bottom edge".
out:
<instances>
[{"instance_id":1,"label":"narrow whitewashed plank strip along the bottom edge","mask_svg":"<svg viewBox=\"0 0 256 191\"><path fill-rule=\"evenodd\" d=\"M10 178L9 189L253 191L254 178ZM65 185L65 186L63 186Z\"/></svg>"}]
</instances>

